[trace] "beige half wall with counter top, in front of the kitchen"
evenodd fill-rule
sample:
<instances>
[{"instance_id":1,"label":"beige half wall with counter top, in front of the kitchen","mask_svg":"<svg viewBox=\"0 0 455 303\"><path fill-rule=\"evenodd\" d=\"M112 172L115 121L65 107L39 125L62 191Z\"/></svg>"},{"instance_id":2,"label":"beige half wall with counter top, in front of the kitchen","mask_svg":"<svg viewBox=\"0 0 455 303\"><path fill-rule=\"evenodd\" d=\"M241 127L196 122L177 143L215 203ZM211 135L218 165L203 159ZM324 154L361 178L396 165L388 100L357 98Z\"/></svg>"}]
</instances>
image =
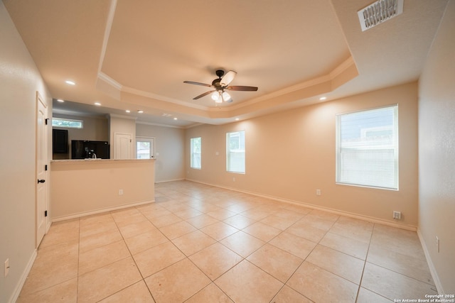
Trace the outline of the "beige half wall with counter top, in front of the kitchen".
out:
<instances>
[{"instance_id":1,"label":"beige half wall with counter top, in front of the kitchen","mask_svg":"<svg viewBox=\"0 0 455 303\"><path fill-rule=\"evenodd\" d=\"M154 202L154 162L154 159L51 161L51 220Z\"/></svg>"}]
</instances>

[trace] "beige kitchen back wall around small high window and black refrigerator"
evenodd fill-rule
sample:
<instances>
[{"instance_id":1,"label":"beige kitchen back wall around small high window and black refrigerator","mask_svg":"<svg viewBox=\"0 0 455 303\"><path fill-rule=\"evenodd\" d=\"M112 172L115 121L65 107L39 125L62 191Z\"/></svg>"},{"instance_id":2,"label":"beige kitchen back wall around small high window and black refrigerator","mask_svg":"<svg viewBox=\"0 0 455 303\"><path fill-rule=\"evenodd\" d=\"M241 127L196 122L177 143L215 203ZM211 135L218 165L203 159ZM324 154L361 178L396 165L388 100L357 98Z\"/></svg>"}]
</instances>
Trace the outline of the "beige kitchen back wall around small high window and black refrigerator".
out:
<instances>
[{"instance_id":1,"label":"beige kitchen back wall around small high window and black refrigerator","mask_svg":"<svg viewBox=\"0 0 455 303\"><path fill-rule=\"evenodd\" d=\"M106 117L71 116L53 113L54 118L82 120L83 128L59 128L68 130L68 154L53 154L53 159L71 158L71 140L109 141L109 121Z\"/></svg>"}]
</instances>

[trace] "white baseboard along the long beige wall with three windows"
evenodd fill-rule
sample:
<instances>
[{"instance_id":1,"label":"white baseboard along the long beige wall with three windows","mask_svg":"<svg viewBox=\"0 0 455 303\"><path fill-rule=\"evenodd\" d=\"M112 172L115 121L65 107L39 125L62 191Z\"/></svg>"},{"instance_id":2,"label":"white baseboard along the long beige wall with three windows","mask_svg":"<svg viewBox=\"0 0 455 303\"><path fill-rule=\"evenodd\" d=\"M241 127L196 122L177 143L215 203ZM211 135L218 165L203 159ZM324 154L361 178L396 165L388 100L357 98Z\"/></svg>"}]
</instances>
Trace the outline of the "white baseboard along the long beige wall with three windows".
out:
<instances>
[{"instance_id":1,"label":"white baseboard along the long beige wall with three windows","mask_svg":"<svg viewBox=\"0 0 455 303\"><path fill-rule=\"evenodd\" d=\"M279 198L279 197L269 196L267 194L258 194L257 192L248 192L246 190L236 189L236 188L232 188L232 187L223 187L223 186L220 186L220 185L200 182L200 181L197 181L197 180L191 180L191 179L186 179L186 180L191 181L191 182L200 183L200 184L210 185L210 186L213 186L213 187L229 189L229 190L232 190L234 192L242 192L244 194L251 194L251 195L256 196L256 197L272 199L272 200L275 200L275 201L278 201L278 202L284 202L284 203L288 203L288 204L304 206L304 207L308 207L310 209L317 209L317 210L320 210L320 211L327 211L327 212L329 212L331 214L337 214L339 216L348 216L348 217L354 218L354 219L359 219L359 220L369 221L369 222L378 223L378 224L382 224L382 225L386 225L386 226L392 226L392 227L406 229L407 231L417 231L417 226L414 226L414 225L398 224L398 223L395 223L395 222L392 222L392 221L375 218L373 216L363 216L361 214L355 214L355 213L351 213L351 212L348 212L348 211L341 211L341 210L338 210L338 209L331 209L331 208L328 208L328 207L317 206L317 205L314 205L314 204L308 204L308 203L299 202L299 201L293 201L293 200L289 200L289 199L282 199L282 198Z\"/></svg>"}]
</instances>

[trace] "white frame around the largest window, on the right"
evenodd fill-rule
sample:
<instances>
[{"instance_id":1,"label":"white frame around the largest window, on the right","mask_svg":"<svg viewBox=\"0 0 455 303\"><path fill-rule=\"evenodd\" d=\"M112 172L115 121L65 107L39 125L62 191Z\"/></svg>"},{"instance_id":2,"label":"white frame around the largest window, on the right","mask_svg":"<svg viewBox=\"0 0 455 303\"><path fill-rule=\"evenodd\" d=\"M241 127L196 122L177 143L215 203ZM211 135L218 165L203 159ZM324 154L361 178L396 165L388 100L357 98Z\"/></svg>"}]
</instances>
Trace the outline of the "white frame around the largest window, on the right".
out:
<instances>
[{"instance_id":1,"label":"white frame around the largest window, on the right","mask_svg":"<svg viewBox=\"0 0 455 303\"><path fill-rule=\"evenodd\" d=\"M393 121L392 121L392 139L390 140L390 144L388 145L359 145L357 148L350 148L351 150L393 150L393 177L392 177L392 186L379 186L378 184L372 184L372 183L357 183L357 182L348 182L346 180L341 180L341 174L343 170L343 163L341 160L341 150L347 149L346 147L343 148L341 143L341 117L346 116L349 114L358 114L362 112L368 112L368 111L376 111L380 109L392 109L393 111ZM382 130L380 129L382 128ZM379 126L375 128L370 128L370 131L384 131L387 127L385 126ZM367 136L366 133L368 133L368 128L365 128L364 130L360 130L360 133L363 133L361 136ZM398 104L390 104L387 106L380 106L380 107L375 107L375 108L370 108L370 109L362 109L358 111L351 111L348 113L343 113L343 114L337 114L336 115L336 171L335 171L335 177L336 177L336 184L341 184L341 185L348 185L348 186L355 186L355 187L369 187L369 188L375 188L375 189L387 189L387 190L395 190L398 191L400 189L400 162L399 162L399 157L400 157L400 150L399 150L399 145L400 145L400 140L399 140L399 133L400 133L400 128L399 128L399 106Z\"/></svg>"}]
</instances>

